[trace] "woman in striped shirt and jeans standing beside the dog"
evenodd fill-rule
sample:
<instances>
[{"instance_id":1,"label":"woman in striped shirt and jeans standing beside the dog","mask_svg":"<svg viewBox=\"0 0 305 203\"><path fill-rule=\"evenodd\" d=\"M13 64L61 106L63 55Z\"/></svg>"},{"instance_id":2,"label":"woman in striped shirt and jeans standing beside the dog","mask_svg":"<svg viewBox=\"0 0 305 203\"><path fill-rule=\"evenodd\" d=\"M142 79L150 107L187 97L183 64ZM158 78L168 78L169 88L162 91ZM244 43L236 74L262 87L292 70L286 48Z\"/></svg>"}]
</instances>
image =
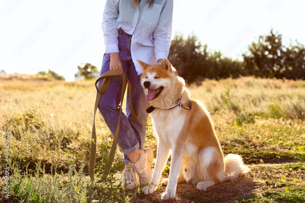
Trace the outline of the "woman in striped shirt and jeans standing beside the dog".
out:
<instances>
[{"instance_id":1,"label":"woman in striped shirt and jeans standing beside the dog","mask_svg":"<svg viewBox=\"0 0 305 203\"><path fill-rule=\"evenodd\" d=\"M147 123L146 108L149 104L140 84L142 69L137 60L156 64L167 58L171 43L172 13L173 0L106 1L102 21L106 53L100 75L123 68L131 82L133 109L143 123ZM108 91L99 101L99 111L113 135L119 118L122 81L122 77L112 77ZM117 143L124 153L123 161L126 164L121 183L123 186L127 184L126 189L133 189L137 187L138 181L141 184L149 183L153 151L151 148L144 149L146 126L132 117L128 94L126 101L126 115L124 112L120 115Z\"/></svg>"}]
</instances>

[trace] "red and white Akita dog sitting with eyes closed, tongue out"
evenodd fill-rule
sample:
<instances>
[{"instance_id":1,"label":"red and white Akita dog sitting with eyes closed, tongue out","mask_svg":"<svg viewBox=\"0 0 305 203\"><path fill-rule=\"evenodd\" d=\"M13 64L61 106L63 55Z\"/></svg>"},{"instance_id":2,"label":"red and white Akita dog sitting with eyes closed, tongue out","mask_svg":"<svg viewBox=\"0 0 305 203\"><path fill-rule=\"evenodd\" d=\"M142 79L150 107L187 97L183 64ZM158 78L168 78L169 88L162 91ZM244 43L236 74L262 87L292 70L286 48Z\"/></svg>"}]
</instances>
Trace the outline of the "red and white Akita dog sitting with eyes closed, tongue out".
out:
<instances>
[{"instance_id":1,"label":"red and white Akita dog sitting with eyes closed, tongue out","mask_svg":"<svg viewBox=\"0 0 305 203\"><path fill-rule=\"evenodd\" d=\"M197 184L203 191L249 171L241 156L224 157L209 111L199 100L190 99L185 80L167 59L155 65L138 63L145 99L151 105L147 112L158 139L156 164L149 184L142 189L144 194L156 190L170 151L170 174L161 183L167 185L162 199L173 198L177 184Z\"/></svg>"}]
</instances>

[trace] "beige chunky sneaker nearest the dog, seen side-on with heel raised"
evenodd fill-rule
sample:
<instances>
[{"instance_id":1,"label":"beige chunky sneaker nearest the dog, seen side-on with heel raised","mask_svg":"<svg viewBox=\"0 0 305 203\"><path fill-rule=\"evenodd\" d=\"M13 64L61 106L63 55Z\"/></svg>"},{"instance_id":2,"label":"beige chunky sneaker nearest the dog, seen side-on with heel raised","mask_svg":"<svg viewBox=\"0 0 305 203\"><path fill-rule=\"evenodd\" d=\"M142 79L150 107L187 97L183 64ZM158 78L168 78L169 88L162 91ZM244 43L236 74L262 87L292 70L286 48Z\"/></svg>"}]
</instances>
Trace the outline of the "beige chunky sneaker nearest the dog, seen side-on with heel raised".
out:
<instances>
[{"instance_id":1,"label":"beige chunky sneaker nearest the dog, seen side-on with heel raised","mask_svg":"<svg viewBox=\"0 0 305 203\"><path fill-rule=\"evenodd\" d=\"M149 183L152 178L151 163L153 159L153 150L151 148L146 148L144 150L140 149L140 158L134 164L135 170L139 176L139 182L142 185ZM133 165L133 164L131 164Z\"/></svg>"}]
</instances>

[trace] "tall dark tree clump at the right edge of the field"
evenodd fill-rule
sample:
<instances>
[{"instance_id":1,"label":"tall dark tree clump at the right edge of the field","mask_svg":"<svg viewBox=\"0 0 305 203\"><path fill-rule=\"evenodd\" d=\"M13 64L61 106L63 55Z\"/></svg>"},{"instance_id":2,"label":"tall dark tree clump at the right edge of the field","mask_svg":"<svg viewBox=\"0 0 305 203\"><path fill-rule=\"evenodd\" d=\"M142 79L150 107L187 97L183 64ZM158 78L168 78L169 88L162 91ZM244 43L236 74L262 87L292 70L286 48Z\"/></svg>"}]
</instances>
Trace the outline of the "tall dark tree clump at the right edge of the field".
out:
<instances>
[{"instance_id":1,"label":"tall dark tree clump at the right edge of the field","mask_svg":"<svg viewBox=\"0 0 305 203\"><path fill-rule=\"evenodd\" d=\"M305 79L305 49L296 41L282 45L282 34L271 29L268 35L259 36L258 42L243 54L245 70L250 74L268 78Z\"/></svg>"}]
</instances>

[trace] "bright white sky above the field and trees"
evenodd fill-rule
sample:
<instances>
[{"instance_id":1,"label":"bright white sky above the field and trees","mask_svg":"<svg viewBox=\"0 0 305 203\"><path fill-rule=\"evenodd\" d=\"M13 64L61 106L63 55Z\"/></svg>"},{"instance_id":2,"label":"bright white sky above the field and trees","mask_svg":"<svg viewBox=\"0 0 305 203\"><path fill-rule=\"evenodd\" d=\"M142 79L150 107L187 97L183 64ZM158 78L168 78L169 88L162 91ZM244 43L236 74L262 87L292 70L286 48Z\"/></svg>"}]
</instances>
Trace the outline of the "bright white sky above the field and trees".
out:
<instances>
[{"instance_id":1,"label":"bright white sky above the field and trees","mask_svg":"<svg viewBox=\"0 0 305 203\"><path fill-rule=\"evenodd\" d=\"M81 63L100 69L105 3L1 0L0 70L36 74L51 69L73 81ZM271 28L283 35L283 44L290 39L305 44L304 13L304 0L174 0L172 37L194 33L209 50L236 59Z\"/></svg>"}]
</instances>

